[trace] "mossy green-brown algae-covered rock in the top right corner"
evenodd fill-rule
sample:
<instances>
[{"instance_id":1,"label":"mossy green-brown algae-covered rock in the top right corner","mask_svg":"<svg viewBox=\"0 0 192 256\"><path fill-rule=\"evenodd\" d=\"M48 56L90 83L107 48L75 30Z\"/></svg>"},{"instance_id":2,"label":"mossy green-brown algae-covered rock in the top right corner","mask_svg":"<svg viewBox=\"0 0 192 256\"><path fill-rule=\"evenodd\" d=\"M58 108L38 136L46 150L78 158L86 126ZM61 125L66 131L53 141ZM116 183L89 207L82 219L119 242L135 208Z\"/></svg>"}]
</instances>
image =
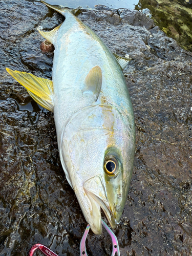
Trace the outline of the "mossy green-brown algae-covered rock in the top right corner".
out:
<instances>
[{"instance_id":1,"label":"mossy green-brown algae-covered rock in the top right corner","mask_svg":"<svg viewBox=\"0 0 192 256\"><path fill-rule=\"evenodd\" d=\"M188 1L140 0L135 9L150 9L155 25L174 38L183 49L192 51L191 7Z\"/></svg>"}]
</instances>

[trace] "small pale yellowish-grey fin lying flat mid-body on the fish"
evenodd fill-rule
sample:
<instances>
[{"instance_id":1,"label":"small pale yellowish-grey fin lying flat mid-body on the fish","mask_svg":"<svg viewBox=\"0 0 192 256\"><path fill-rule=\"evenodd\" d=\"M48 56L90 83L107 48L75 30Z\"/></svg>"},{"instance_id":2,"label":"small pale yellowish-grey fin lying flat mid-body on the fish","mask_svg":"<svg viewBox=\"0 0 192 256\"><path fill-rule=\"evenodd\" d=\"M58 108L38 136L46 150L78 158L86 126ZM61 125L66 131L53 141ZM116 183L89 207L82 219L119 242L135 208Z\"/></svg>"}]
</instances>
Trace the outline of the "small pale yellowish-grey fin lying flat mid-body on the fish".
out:
<instances>
[{"instance_id":1,"label":"small pale yellowish-grey fin lying flat mid-body on the fish","mask_svg":"<svg viewBox=\"0 0 192 256\"><path fill-rule=\"evenodd\" d=\"M84 79L84 83L85 87L83 88L83 93L91 91L93 92L93 94L95 95L95 99L97 100L102 85L102 71L99 66L95 66L90 70L90 72L86 76L86 79Z\"/></svg>"}]
</instances>

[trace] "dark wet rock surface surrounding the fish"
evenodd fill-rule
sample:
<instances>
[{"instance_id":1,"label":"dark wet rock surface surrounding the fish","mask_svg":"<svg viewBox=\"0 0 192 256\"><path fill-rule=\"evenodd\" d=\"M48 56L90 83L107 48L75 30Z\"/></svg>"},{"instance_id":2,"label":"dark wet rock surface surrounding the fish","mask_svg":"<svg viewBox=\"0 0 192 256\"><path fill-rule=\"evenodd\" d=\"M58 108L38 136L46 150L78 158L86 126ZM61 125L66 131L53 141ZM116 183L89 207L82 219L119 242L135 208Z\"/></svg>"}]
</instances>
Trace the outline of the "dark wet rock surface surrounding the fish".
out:
<instances>
[{"instance_id":1,"label":"dark wet rock surface surrounding the fish","mask_svg":"<svg viewBox=\"0 0 192 256\"><path fill-rule=\"evenodd\" d=\"M87 226L63 173L53 114L5 70L50 78L53 52L38 33L63 17L38 2L0 1L0 255L27 255L41 243L79 255ZM192 255L192 54L134 10L98 7L78 16L115 53L133 102L136 153L121 222L113 230L123 255ZM111 255L111 239L91 231L89 255ZM36 255L40 255L39 252Z\"/></svg>"}]
</instances>

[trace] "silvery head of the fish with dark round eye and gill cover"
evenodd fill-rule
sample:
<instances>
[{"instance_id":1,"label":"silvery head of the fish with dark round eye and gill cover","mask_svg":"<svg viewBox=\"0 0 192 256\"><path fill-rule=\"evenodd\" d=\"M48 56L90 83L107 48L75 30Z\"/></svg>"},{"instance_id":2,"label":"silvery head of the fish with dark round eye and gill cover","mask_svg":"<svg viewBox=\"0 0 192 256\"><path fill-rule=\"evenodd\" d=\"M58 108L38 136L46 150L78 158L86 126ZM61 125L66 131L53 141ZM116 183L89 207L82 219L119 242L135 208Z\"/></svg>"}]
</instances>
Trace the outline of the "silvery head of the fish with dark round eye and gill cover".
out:
<instances>
[{"instance_id":1,"label":"silvery head of the fish with dark round eye and gill cover","mask_svg":"<svg viewBox=\"0 0 192 256\"><path fill-rule=\"evenodd\" d=\"M100 208L115 228L132 176L133 121L112 105L95 105L76 113L61 139L62 165L92 231L102 232Z\"/></svg>"}]
</instances>

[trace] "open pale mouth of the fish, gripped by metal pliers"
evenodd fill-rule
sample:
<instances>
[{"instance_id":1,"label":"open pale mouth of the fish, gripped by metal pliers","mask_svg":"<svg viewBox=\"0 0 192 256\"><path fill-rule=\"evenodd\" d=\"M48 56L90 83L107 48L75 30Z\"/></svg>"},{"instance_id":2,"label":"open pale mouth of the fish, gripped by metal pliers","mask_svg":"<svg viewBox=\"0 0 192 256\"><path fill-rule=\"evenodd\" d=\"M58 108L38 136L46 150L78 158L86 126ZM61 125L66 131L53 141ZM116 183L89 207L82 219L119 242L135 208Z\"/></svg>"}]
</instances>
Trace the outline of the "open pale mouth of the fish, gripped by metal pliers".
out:
<instances>
[{"instance_id":1,"label":"open pale mouth of the fish, gripped by metal pliers","mask_svg":"<svg viewBox=\"0 0 192 256\"><path fill-rule=\"evenodd\" d=\"M108 219L111 227L115 228L117 226L117 222L111 210L109 200L106 197L102 177L100 177L99 175L87 180L86 182L84 182L83 188L91 202L92 211L94 211L95 213L97 212L97 214L94 215L95 218L92 218L92 220L90 221L88 220L92 231L97 234L102 233L100 208L102 208L102 210L104 211L104 214ZM95 229L95 227L97 227L97 230Z\"/></svg>"}]
</instances>

